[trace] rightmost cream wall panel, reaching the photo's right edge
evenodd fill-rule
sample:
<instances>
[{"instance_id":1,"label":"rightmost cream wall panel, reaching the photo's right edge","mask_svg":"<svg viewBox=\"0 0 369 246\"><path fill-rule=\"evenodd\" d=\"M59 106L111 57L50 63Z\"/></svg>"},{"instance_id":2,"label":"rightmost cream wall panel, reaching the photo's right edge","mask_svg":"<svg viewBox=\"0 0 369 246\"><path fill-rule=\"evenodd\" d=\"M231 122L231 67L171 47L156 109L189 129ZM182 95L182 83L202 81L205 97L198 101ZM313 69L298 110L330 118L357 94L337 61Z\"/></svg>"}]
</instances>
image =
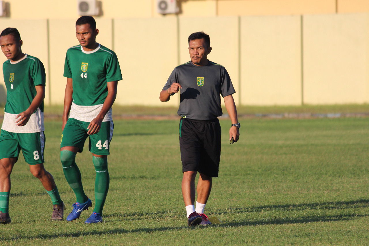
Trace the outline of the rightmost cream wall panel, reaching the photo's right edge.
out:
<instances>
[{"instance_id":1,"label":"rightmost cream wall panel, reaching the photo's right edge","mask_svg":"<svg viewBox=\"0 0 369 246\"><path fill-rule=\"evenodd\" d=\"M368 103L368 14L303 17L304 102Z\"/></svg>"}]
</instances>

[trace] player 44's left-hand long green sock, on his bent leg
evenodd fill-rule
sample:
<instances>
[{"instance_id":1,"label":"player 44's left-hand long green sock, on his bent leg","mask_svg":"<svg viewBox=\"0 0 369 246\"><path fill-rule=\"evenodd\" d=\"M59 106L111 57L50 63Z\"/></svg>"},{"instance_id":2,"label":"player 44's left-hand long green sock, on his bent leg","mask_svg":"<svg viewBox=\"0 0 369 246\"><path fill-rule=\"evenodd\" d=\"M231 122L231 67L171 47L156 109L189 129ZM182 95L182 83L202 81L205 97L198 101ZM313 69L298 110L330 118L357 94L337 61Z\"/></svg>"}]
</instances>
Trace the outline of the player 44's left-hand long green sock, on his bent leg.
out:
<instances>
[{"instance_id":1,"label":"player 44's left-hand long green sock, on his bent leg","mask_svg":"<svg viewBox=\"0 0 369 246\"><path fill-rule=\"evenodd\" d=\"M81 172L77 167L75 159L76 153L69 150L60 151L60 160L63 165L65 179L76 194L77 202L84 203L87 201L87 196L85 191L83 191Z\"/></svg>"}]
</instances>

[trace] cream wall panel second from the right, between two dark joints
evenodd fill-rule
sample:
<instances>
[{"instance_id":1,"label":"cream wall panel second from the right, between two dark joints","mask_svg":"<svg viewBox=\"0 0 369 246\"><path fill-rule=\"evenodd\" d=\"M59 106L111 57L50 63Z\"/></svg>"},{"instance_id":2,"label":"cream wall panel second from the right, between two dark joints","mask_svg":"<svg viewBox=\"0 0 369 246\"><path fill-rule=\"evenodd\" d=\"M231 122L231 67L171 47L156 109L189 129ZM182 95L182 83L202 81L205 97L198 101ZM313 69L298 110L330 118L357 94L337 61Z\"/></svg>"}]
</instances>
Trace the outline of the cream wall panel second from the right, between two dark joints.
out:
<instances>
[{"instance_id":1,"label":"cream wall panel second from the right, between two dark joints","mask_svg":"<svg viewBox=\"0 0 369 246\"><path fill-rule=\"evenodd\" d=\"M300 16L241 18L241 104L301 104Z\"/></svg>"}]
</instances>

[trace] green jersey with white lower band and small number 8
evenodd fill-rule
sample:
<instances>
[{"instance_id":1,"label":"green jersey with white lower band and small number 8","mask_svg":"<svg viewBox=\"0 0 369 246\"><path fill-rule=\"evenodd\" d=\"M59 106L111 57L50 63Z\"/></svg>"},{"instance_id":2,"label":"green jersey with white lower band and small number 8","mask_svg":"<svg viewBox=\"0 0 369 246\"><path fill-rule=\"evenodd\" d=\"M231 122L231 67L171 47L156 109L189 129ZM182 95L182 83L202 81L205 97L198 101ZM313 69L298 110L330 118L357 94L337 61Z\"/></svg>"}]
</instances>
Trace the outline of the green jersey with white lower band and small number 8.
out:
<instances>
[{"instance_id":1,"label":"green jersey with white lower band and small number 8","mask_svg":"<svg viewBox=\"0 0 369 246\"><path fill-rule=\"evenodd\" d=\"M25 126L15 125L15 116L31 105L37 92L35 86L45 86L45 68L42 62L31 55L3 63L4 82L7 89L4 120L1 129L16 133L44 131L44 102L32 113Z\"/></svg>"}]
</instances>

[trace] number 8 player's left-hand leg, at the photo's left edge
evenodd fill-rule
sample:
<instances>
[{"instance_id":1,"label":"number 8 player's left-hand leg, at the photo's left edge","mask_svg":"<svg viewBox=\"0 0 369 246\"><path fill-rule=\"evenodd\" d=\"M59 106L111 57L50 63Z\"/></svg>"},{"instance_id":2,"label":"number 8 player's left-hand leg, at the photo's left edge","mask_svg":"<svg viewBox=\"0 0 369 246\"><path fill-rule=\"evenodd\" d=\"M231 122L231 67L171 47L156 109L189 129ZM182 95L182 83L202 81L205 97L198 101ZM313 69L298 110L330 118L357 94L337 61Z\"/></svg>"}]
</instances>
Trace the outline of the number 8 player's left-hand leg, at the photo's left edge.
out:
<instances>
[{"instance_id":1,"label":"number 8 player's left-hand leg, at the photo's left edge","mask_svg":"<svg viewBox=\"0 0 369 246\"><path fill-rule=\"evenodd\" d=\"M9 216L10 174L20 153L15 133L1 130L0 150L0 223L7 224L11 222Z\"/></svg>"}]
</instances>

